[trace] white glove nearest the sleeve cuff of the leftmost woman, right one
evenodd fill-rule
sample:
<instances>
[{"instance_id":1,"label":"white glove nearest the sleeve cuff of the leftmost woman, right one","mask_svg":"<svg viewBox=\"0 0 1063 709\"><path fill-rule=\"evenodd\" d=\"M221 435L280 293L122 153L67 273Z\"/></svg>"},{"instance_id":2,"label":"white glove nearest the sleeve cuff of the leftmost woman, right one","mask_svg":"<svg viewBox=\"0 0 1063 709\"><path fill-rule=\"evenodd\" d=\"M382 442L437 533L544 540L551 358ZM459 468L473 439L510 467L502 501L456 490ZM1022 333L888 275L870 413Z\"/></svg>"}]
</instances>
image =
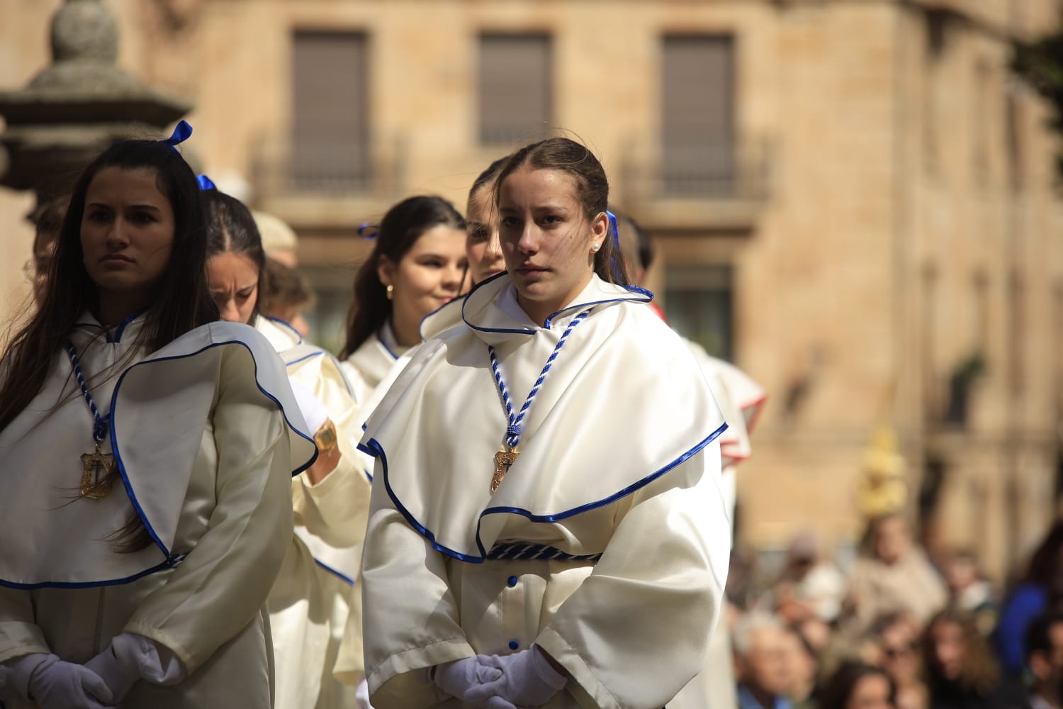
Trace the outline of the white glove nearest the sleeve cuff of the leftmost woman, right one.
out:
<instances>
[{"instance_id":1,"label":"white glove nearest the sleeve cuff of the leftmost woman, right one","mask_svg":"<svg viewBox=\"0 0 1063 709\"><path fill-rule=\"evenodd\" d=\"M184 664L169 648L135 632L117 636L85 666L103 678L116 703L125 698L138 679L154 685L176 685L186 676Z\"/></svg>"}]
</instances>

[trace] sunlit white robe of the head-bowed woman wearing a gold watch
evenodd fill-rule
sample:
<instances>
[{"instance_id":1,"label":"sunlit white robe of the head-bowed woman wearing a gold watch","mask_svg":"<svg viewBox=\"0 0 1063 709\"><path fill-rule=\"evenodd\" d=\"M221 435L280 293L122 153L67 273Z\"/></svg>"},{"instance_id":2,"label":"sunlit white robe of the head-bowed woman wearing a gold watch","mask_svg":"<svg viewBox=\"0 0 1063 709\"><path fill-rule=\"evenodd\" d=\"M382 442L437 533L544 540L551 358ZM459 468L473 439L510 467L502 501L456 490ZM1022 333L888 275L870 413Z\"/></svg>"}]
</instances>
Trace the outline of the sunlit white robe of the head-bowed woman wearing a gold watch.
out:
<instances>
[{"instance_id":1,"label":"sunlit white robe of the head-bowed woman wearing a gold watch","mask_svg":"<svg viewBox=\"0 0 1063 709\"><path fill-rule=\"evenodd\" d=\"M277 709L355 706L354 689L334 678L344 628L360 627L355 597L369 511L361 421L336 359L303 342L286 323L259 317L255 327L281 354L288 376L325 406L336 426L340 461L318 485L292 480L296 536L270 592ZM360 658L359 658L360 659Z\"/></svg>"}]
</instances>

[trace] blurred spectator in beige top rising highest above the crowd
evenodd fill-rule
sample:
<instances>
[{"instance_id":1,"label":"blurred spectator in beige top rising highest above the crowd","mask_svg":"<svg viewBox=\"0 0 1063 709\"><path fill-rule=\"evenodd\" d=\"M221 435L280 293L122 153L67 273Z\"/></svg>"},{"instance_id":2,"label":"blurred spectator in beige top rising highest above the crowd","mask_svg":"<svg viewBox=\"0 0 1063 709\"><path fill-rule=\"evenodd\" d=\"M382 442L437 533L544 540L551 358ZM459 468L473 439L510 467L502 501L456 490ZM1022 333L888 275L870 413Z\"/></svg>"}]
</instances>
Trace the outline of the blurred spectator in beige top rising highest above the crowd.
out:
<instances>
[{"instance_id":1,"label":"blurred spectator in beige top rising highest above the crowd","mask_svg":"<svg viewBox=\"0 0 1063 709\"><path fill-rule=\"evenodd\" d=\"M863 554L849 575L850 620L859 629L878 617L905 612L925 623L945 607L945 584L911 538L899 512L873 519L864 535Z\"/></svg>"}]
</instances>

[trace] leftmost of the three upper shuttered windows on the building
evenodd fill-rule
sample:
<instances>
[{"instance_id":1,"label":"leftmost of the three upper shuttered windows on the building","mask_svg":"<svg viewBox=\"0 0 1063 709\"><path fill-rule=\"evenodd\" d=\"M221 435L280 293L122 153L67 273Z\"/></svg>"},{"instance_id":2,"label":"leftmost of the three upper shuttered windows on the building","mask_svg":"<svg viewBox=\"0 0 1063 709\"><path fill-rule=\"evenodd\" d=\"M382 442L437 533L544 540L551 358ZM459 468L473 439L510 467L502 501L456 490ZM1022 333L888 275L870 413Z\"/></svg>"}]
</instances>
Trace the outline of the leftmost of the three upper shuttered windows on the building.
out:
<instances>
[{"instance_id":1,"label":"leftmost of the three upper shuttered windows on the building","mask_svg":"<svg viewBox=\"0 0 1063 709\"><path fill-rule=\"evenodd\" d=\"M297 30L292 37L294 188L360 190L369 180L367 39Z\"/></svg>"}]
</instances>

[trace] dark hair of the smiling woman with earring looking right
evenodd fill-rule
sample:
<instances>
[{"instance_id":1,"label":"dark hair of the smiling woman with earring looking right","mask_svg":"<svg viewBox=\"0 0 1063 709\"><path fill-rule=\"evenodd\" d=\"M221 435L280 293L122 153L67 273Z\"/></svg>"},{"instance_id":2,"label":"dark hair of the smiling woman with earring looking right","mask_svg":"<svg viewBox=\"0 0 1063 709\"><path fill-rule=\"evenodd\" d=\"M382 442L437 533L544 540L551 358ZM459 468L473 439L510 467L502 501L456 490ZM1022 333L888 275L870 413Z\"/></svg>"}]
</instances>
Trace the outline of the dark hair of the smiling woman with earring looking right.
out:
<instances>
[{"instance_id":1,"label":"dark hair of the smiling woman with earring looking right","mask_svg":"<svg viewBox=\"0 0 1063 709\"><path fill-rule=\"evenodd\" d=\"M376 274L383 259L398 266L422 234L440 224L466 227L461 213L441 197L410 197L384 215L373 251L354 276L354 300L347 314L347 342L340 359L354 354L391 317L387 288Z\"/></svg>"}]
</instances>

